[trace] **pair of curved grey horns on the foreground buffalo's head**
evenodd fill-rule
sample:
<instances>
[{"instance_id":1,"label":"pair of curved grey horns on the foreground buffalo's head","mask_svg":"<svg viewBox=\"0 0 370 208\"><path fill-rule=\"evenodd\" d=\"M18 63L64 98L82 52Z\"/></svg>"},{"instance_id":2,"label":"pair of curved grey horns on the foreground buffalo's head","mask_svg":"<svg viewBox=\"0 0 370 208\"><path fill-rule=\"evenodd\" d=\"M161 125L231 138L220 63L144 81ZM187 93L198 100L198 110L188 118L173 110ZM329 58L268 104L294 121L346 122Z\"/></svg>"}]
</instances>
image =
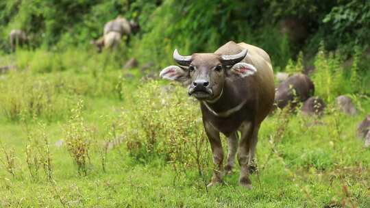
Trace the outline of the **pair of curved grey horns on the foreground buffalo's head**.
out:
<instances>
[{"instance_id":1,"label":"pair of curved grey horns on the foreground buffalo's head","mask_svg":"<svg viewBox=\"0 0 370 208\"><path fill-rule=\"evenodd\" d=\"M243 49L243 51L235 55L221 55L221 63L224 66L232 66L243 60L247 53L248 50ZM188 66L191 63L191 55L180 55L179 51L175 49L175 51L173 51L173 60L175 60L175 62L177 62L177 64L180 64L181 66Z\"/></svg>"}]
</instances>

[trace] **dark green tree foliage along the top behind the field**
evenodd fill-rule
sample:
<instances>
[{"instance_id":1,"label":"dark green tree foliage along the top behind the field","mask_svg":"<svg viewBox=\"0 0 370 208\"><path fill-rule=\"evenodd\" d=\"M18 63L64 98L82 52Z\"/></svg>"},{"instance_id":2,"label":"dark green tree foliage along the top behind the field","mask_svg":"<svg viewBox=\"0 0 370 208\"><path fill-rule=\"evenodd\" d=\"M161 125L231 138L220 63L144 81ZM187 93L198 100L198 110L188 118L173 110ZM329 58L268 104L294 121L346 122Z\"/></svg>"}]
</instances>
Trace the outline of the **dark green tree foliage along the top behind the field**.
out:
<instances>
[{"instance_id":1,"label":"dark green tree foliage along the top behind the field","mask_svg":"<svg viewBox=\"0 0 370 208\"><path fill-rule=\"evenodd\" d=\"M299 51L325 48L351 53L355 44L368 47L370 3L330 1L185 1L185 0L3 0L0 2L0 47L8 50L11 29L24 29L34 47L88 46L99 38L106 21L118 14L140 23L132 52L162 66L174 47L182 53L214 51L228 40L245 41L271 54L284 67ZM299 21L307 29L303 42L281 34L281 21Z\"/></svg>"}]
</instances>

